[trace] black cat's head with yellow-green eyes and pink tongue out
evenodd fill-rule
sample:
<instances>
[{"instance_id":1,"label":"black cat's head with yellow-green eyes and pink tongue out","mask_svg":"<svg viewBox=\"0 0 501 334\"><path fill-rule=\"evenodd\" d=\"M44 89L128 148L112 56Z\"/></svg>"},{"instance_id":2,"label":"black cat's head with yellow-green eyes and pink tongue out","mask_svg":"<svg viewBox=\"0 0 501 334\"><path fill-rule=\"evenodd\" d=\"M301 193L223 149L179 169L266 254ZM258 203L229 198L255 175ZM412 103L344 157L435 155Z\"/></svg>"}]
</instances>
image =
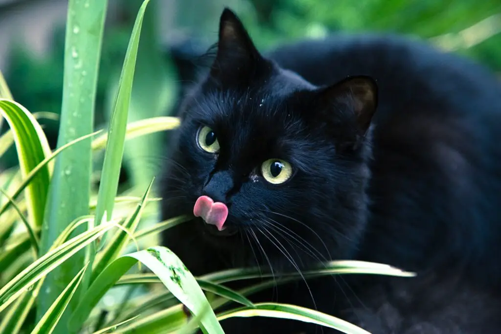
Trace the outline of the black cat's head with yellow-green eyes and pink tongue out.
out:
<instances>
[{"instance_id":1,"label":"black cat's head with yellow-green eyes and pink tongue out","mask_svg":"<svg viewBox=\"0 0 501 334\"><path fill-rule=\"evenodd\" d=\"M350 257L365 227L376 105L368 77L315 87L281 69L225 9L213 65L182 103L160 194L163 218L199 217L167 231L166 246L191 268Z\"/></svg>"}]
</instances>

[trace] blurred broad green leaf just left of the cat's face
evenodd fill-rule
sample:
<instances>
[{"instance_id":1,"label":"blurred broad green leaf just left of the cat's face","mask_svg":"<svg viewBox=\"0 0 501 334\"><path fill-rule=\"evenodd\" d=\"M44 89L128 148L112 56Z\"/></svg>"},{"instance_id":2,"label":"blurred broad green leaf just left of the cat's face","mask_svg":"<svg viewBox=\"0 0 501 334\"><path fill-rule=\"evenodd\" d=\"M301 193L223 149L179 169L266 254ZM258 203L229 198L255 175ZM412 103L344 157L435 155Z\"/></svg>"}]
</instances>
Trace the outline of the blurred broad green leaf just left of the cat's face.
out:
<instances>
[{"instance_id":1,"label":"blurred broad green leaf just left of the cat's face","mask_svg":"<svg viewBox=\"0 0 501 334\"><path fill-rule=\"evenodd\" d=\"M140 1L130 1L123 6L125 13L133 15L138 10ZM159 43L157 15L161 3L153 1L144 15L144 23L141 29L141 42L136 60L136 72L134 75L134 87L131 93L129 108L129 121L142 120L146 117L163 116L166 111L172 110L172 104L176 100L179 85L176 83L177 72L173 63L166 59ZM111 88L116 91L116 87ZM145 187L151 178L155 176L155 168L145 168L144 156L160 158L164 156L168 148L162 146L162 136L154 133L133 140L125 146L124 160L126 161L129 177L134 184ZM141 152L138 155L137 152Z\"/></svg>"}]
</instances>

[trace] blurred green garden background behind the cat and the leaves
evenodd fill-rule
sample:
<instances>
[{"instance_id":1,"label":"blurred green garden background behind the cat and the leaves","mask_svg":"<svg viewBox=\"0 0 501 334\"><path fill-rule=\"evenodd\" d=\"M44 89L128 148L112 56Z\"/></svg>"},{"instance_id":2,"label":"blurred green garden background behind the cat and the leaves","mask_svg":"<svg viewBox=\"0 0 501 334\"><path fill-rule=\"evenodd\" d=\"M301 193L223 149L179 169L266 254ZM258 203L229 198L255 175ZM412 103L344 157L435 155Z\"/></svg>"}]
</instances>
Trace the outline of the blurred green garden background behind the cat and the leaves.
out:
<instances>
[{"instance_id":1,"label":"blurred green garden background behind the cat and the leaves","mask_svg":"<svg viewBox=\"0 0 501 334\"><path fill-rule=\"evenodd\" d=\"M106 126L141 1L109 3L96 128ZM216 41L224 6L240 16L262 50L331 32L390 32L427 39L501 73L501 0L153 0L141 35L129 121L174 110L180 81L192 69L187 58ZM66 8L66 0L0 0L0 70L14 98L33 113L61 109ZM54 147L57 121L41 123ZM162 135L128 142L122 184L149 182L167 153L164 144ZM4 168L15 165L14 149L2 159Z\"/></svg>"}]
</instances>

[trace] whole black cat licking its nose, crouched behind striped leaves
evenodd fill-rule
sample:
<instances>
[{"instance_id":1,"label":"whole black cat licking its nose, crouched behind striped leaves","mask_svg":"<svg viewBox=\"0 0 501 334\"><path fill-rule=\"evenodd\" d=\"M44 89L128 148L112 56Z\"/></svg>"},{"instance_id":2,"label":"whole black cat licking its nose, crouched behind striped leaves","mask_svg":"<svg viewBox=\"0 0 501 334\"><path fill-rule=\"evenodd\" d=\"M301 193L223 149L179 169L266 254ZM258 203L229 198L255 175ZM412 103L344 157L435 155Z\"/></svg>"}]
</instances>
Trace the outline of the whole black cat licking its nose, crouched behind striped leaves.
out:
<instances>
[{"instance_id":1,"label":"whole black cat licking its nose, crouched behind striped leaves","mask_svg":"<svg viewBox=\"0 0 501 334\"><path fill-rule=\"evenodd\" d=\"M373 334L501 331L501 86L486 69L395 36L305 41L265 58L226 9L215 60L180 108L162 218L198 217L164 244L194 274L386 263L417 276L319 278L251 299ZM264 317L221 324L337 332Z\"/></svg>"}]
</instances>

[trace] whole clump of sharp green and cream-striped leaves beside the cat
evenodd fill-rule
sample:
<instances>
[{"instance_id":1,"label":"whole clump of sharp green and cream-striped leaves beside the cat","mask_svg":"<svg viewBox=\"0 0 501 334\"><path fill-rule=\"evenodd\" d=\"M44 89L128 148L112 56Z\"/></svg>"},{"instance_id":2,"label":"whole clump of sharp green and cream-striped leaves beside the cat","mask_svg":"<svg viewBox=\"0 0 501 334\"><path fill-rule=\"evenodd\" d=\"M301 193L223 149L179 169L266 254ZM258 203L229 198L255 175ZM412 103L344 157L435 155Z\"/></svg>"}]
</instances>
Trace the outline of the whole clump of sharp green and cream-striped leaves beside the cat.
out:
<instances>
[{"instance_id":1,"label":"whole clump of sharp green and cream-striped leaves beside the cat","mask_svg":"<svg viewBox=\"0 0 501 334\"><path fill-rule=\"evenodd\" d=\"M275 283L271 278L241 291L224 286L242 277L259 277L257 268L193 277L168 248L151 246L148 240L190 219L182 216L146 224L158 201L150 197L154 178L141 189L141 196L133 195L134 189L117 196L125 142L179 124L173 117L127 124L148 3L144 1L136 18L107 133L93 132L107 7L104 0L69 2L60 135L55 150L50 149L37 118L13 100L0 75L0 115L10 126L0 137L0 156L15 144L19 160L18 167L0 174L0 334L84 330L96 334L117 327L122 333L192 332L198 326L212 334L222 332L220 319L256 315L367 333L328 314L294 305L253 304L245 297ZM91 191L93 153L103 148L96 194ZM342 273L411 275L382 264L337 261L304 276ZM291 274L284 281L299 277ZM167 290L152 288L157 282ZM209 302L203 291L217 298ZM103 302L103 297L112 301ZM229 301L243 306L218 312ZM194 315L190 321L180 302ZM138 313L142 313L139 318Z\"/></svg>"}]
</instances>

